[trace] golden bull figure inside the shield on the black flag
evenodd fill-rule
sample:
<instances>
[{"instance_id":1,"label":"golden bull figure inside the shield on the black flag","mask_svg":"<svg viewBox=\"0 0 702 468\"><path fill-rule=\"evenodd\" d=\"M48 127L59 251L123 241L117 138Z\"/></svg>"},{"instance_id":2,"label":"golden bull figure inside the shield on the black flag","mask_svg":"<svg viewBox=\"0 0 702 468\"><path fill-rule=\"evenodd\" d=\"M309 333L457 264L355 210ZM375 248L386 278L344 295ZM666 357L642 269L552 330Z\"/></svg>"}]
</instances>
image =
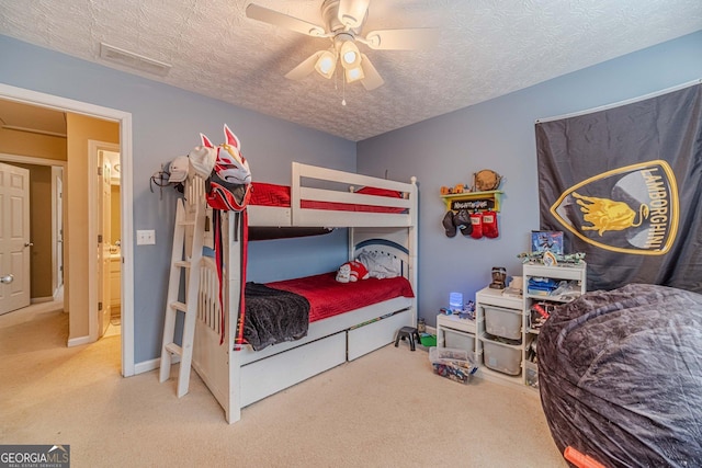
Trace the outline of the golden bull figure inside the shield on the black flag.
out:
<instances>
[{"instance_id":1,"label":"golden bull figure inside the shield on the black flag","mask_svg":"<svg viewBox=\"0 0 702 468\"><path fill-rule=\"evenodd\" d=\"M591 226L581 226L584 231L597 231L600 236L605 231L622 231L631 227L638 227L648 218L648 206L641 204L638 213L634 212L624 202L614 202L609 198L596 196L582 196L573 192L582 212L582 219ZM636 219L638 215L638 219Z\"/></svg>"}]
</instances>

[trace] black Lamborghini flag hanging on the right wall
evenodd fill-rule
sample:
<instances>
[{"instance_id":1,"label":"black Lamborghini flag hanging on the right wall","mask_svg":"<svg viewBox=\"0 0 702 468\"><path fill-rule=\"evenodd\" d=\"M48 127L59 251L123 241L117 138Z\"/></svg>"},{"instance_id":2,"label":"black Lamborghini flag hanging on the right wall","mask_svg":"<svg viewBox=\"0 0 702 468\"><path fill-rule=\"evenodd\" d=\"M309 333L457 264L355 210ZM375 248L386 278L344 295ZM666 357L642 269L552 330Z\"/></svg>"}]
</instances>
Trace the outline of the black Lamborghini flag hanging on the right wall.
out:
<instances>
[{"instance_id":1,"label":"black Lamborghini flag hanging on the right wall","mask_svg":"<svg viewBox=\"0 0 702 468\"><path fill-rule=\"evenodd\" d=\"M585 252L588 289L702 293L702 84L536 123L541 229Z\"/></svg>"}]
</instances>

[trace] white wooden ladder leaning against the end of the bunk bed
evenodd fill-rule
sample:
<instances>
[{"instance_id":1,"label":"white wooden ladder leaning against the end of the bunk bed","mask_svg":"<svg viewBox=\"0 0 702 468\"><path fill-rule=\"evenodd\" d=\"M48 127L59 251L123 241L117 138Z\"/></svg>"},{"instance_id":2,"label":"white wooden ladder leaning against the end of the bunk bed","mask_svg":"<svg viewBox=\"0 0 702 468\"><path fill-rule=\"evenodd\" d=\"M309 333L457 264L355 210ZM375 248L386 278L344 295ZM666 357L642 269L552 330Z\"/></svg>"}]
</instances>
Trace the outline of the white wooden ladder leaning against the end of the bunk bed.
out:
<instances>
[{"instance_id":1,"label":"white wooden ladder leaning against the end of the bunk bed","mask_svg":"<svg viewBox=\"0 0 702 468\"><path fill-rule=\"evenodd\" d=\"M193 358L193 341L195 336L195 319L197 316L197 289L200 285L200 263L202 260L203 235L205 230L204 199L195 201L194 216L188 216L183 201L178 199L176 226L173 229L173 251L168 282L166 301L166 320L163 323L163 343L161 347L161 368L159 380L170 377L174 357L180 357L178 375L178 398L188 393L190 368ZM192 240L191 240L192 239ZM190 246L190 248L189 248ZM181 297L181 272L185 271L184 303ZM178 313L184 313L181 345L174 342Z\"/></svg>"}]
</instances>

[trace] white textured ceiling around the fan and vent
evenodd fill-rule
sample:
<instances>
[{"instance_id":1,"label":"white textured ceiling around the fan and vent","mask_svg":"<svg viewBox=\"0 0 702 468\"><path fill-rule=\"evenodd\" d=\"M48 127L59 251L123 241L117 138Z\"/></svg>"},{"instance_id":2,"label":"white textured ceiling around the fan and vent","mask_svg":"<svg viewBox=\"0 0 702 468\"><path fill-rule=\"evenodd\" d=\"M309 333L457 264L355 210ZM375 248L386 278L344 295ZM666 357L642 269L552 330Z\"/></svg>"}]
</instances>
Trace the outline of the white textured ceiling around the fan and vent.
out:
<instances>
[{"instance_id":1,"label":"white textured ceiling around the fan and vent","mask_svg":"<svg viewBox=\"0 0 702 468\"><path fill-rule=\"evenodd\" d=\"M363 33L438 27L430 50L371 50L366 91L284 75L328 39L249 20L250 0L2 0L0 34L358 141L702 30L700 0L374 0ZM321 0L256 3L324 25ZM100 58L100 43L172 65ZM346 98L347 105L341 105Z\"/></svg>"}]
</instances>

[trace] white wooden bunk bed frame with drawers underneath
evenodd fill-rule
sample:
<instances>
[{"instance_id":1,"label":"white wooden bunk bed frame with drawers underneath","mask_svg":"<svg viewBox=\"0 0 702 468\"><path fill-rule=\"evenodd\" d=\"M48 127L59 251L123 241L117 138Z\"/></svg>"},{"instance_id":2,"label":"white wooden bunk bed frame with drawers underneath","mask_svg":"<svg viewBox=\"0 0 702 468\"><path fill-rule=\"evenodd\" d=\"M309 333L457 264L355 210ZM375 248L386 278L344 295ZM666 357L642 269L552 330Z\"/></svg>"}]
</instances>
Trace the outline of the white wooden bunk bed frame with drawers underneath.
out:
<instances>
[{"instance_id":1,"label":"white wooden bunk bed frame with drawers underneath","mask_svg":"<svg viewBox=\"0 0 702 468\"><path fill-rule=\"evenodd\" d=\"M417 292L417 184L317 168L293 162L290 208L250 205L249 226L344 227L349 229L349 260L361 250L374 250L400 259L403 274ZM315 186L306 184L312 183ZM329 186L335 186L329 189ZM321 189L319 186L322 186ZM339 186L344 189L339 190ZM389 198L353 193L353 187L373 186L406 194ZM350 187L350 190L349 190ZM202 180L186 186L189 203L201 203ZM403 208L401 214L308 209L301 199L351 203ZM192 210L189 209L189 212ZM240 290L240 239L235 236L234 216L223 217L223 273L225 313L224 344L220 342L218 279L213 259L201 266L199 317L192 366L225 410L226 420L241 418L241 409L312 376L355 359L394 341L397 330L414 324L417 299L398 297L310 323L302 340L253 351L234 349Z\"/></svg>"}]
</instances>

